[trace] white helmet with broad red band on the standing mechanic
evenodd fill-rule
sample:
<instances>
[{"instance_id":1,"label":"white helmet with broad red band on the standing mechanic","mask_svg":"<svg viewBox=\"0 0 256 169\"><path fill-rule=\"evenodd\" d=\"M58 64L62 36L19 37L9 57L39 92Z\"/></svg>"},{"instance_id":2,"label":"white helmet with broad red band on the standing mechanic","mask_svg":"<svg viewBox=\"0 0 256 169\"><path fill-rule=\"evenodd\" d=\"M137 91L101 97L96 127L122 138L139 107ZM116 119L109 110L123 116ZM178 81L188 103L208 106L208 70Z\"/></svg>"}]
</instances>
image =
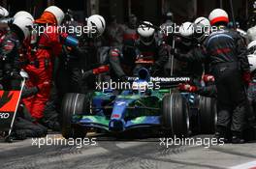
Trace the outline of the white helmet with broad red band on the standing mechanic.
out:
<instances>
[{"instance_id":1,"label":"white helmet with broad red band on the standing mechanic","mask_svg":"<svg viewBox=\"0 0 256 169\"><path fill-rule=\"evenodd\" d=\"M215 25L217 23L229 23L229 14L222 9L215 9L208 15L208 20L210 25Z\"/></svg>"}]
</instances>

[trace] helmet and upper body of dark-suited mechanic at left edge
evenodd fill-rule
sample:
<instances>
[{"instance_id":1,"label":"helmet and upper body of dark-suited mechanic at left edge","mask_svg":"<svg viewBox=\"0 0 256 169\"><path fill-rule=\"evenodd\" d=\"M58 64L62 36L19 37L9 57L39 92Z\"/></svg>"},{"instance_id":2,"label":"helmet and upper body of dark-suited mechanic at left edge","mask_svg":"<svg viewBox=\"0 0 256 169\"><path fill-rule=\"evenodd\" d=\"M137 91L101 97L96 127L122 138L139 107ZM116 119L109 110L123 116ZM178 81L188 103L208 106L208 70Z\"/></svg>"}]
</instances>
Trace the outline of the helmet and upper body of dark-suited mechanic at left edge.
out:
<instances>
[{"instance_id":1,"label":"helmet and upper body of dark-suited mechanic at left edge","mask_svg":"<svg viewBox=\"0 0 256 169\"><path fill-rule=\"evenodd\" d=\"M20 86L20 63L19 50L24 40L30 36L29 27L33 26L33 19L23 16L16 17L10 24L10 32L6 34L0 43L0 79L5 90L19 90Z\"/></svg>"}]
</instances>

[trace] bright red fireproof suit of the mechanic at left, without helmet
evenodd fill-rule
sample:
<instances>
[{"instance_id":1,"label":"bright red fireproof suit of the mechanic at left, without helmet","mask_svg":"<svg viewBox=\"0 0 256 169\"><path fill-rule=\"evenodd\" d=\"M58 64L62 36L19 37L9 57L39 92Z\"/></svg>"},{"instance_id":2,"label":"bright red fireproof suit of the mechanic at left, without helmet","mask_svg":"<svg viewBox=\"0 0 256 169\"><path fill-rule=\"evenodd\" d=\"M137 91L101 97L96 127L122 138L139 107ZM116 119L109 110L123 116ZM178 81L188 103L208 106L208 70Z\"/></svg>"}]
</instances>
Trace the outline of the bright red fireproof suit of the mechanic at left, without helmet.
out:
<instances>
[{"instance_id":1,"label":"bright red fireproof suit of the mechanic at left, without helmet","mask_svg":"<svg viewBox=\"0 0 256 169\"><path fill-rule=\"evenodd\" d=\"M39 92L37 95L23 99L25 106L31 113L31 116L37 120L43 118L44 109L48 101L53 70L53 58L61 52L60 35L55 26L48 26L42 35L39 36L37 48L34 50L27 46L28 64L23 68L29 74L27 81L28 87L37 86ZM54 31L55 30L55 31Z\"/></svg>"}]
</instances>

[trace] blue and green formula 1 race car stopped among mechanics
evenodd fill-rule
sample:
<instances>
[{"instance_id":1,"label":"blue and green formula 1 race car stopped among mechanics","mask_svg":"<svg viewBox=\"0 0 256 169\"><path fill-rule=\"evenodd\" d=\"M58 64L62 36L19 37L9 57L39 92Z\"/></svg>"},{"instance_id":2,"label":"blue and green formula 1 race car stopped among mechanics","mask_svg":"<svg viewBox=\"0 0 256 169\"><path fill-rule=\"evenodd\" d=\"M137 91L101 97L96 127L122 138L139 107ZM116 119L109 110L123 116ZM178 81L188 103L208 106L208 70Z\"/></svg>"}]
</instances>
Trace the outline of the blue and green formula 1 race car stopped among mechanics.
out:
<instances>
[{"instance_id":1,"label":"blue and green formula 1 race car stopped among mechanics","mask_svg":"<svg viewBox=\"0 0 256 169\"><path fill-rule=\"evenodd\" d=\"M62 102L62 135L65 138L84 137L86 130L92 128L120 133L135 128L155 127L167 135L188 136L191 119L189 104L174 86L190 78L149 77L150 82L158 83L161 88L144 91L134 88L134 84L146 84L148 87L148 77L147 70L140 70L133 87L120 93L111 90L94 92L90 99L82 94L67 94ZM206 108L212 109L202 106L203 111ZM206 120L204 128L210 125L212 118Z\"/></svg>"}]
</instances>

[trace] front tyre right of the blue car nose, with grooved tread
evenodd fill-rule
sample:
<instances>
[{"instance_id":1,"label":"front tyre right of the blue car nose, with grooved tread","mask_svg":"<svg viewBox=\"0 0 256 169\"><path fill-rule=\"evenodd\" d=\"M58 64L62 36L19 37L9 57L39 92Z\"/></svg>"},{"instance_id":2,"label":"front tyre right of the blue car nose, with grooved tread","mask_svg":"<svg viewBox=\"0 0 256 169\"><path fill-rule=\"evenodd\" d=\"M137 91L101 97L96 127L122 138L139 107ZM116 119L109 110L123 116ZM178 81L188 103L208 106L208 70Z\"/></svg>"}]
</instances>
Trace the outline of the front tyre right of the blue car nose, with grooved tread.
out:
<instances>
[{"instance_id":1,"label":"front tyre right of the blue car nose, with grooved tread","mask_svg":"<svg viewBox=\"0 0 256 169\"><path fill-rule=\"evenodd\" d=\"M162 113L163 127L168 136L183 137L189 135L188 104L179 93L164 97Z\"/></svg>"}]
</instances>

